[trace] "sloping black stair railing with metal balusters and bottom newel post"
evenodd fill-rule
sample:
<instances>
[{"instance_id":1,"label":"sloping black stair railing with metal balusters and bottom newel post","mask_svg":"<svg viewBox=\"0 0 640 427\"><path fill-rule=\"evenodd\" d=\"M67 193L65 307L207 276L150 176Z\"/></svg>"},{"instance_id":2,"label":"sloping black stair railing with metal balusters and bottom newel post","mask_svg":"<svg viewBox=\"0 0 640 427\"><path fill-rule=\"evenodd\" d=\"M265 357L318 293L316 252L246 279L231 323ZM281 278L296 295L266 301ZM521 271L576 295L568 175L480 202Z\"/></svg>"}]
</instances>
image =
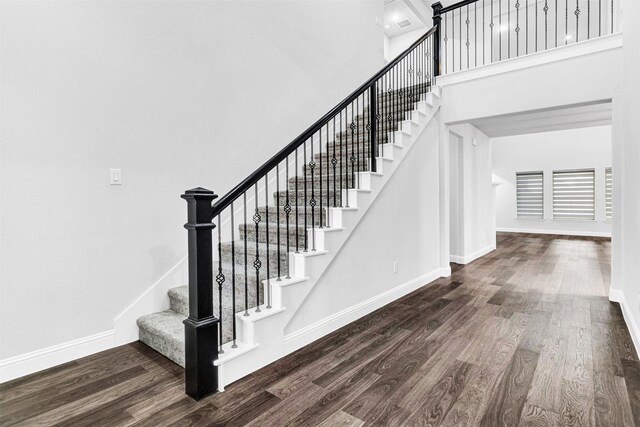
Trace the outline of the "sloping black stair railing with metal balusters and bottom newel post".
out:
<instances>
[{"instance_id":1,"label":"sloping black stair railing with metal balusters and bottom newel post","mask_svg":"<svg viewBox=\"0 0 640 427\"><path fill-rule=\"evenodd\" d=\"M330 226L328 208L349 207L342 190L359 188L360 172L376 171L381 145L394 142L405 112L435 83L435 33L425 33L213 206L217 196L203 188L182 196L187 394L199 399L216 391L214 361L238 345L236 313L271 309L269 280L290 278L289 253L315 251L310 230Z\"/></svg>"}]
</instances>

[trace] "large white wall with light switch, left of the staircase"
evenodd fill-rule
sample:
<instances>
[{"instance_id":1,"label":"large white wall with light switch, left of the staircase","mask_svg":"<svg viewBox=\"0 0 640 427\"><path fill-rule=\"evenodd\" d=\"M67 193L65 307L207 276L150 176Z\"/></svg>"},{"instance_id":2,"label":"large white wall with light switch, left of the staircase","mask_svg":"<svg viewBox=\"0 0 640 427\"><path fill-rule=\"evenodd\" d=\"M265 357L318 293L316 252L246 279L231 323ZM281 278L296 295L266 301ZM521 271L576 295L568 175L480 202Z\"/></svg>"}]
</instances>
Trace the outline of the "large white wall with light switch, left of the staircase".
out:
<instances>
[{"instance_id":1,"label":"large white wall with light switch, left of the staircase","mask_svg":"<svg viewBox=\"0 0 640 427\"><path fill-rule=\"evenodd\" d=\"M382 14L2 2L0 359L112 330L184 259L180 194L224 194L376 72Z\"/></svg>"}]
</instances>

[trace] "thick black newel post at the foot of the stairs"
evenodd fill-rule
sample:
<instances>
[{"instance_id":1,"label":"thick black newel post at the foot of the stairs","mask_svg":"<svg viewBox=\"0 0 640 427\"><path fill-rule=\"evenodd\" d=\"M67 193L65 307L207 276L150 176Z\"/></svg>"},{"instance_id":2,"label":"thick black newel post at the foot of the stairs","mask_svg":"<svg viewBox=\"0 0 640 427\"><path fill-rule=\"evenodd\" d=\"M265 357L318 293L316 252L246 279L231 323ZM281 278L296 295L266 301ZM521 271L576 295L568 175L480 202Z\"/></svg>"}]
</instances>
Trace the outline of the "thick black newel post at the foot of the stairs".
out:
<instances>
[{"instance_id":1,"label":"thick black newel post at the foot of the stairs","mask_svg":"<svg viewBox=\"0 0 640 427\"><path fill-rule=\"evenodd\" d=\"M184 321L185 388L198 400L218 390L218 318L213 315L213 247L211 202L205 188L187 190L189 235L189 317Z\"/></svg>"}]
</instances>

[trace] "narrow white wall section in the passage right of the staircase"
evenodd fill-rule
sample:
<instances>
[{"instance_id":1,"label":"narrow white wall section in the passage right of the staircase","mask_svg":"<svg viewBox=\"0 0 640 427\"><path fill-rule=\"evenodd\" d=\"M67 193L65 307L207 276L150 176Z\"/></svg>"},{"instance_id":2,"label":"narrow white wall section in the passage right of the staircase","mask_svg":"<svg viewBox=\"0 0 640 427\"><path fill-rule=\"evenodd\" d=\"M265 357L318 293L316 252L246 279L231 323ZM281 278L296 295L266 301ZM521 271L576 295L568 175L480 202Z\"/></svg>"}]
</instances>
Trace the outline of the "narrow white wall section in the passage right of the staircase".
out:
<instances>
[{"instance_id":1,"label":"narrow white wall section in the passage right of the staircase","mask_svg":"<svg viewBox=\"0 0 640 427\"><path fill-rule=\"evenodd\" d=\"M462 215L462 224L457 230L462 238L457 253L451 247L450 255L451 261L466 264L492 251L496 246L491 186L491 139L470 124L449 126L448 129L449 157L452 156L451 138L462 139L459 146L462 154L458 154L458 168L461 169L458 178L462 182L458 183L460 198L455 203ZM455 224L449 226L451 229L456 228Z\"/></svg>"}]
</instances>

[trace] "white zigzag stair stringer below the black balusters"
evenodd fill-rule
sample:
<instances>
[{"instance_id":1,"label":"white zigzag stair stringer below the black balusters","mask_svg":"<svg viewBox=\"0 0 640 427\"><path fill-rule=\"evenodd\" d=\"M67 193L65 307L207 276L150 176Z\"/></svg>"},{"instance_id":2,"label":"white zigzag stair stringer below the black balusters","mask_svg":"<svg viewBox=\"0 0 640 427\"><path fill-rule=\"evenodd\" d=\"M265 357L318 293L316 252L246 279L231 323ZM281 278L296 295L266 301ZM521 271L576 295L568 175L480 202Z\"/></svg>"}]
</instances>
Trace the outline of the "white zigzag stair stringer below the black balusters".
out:
<instances>
[{"instance_id":1,"label":"white zigzag stair stringer below the black balusters","mask_svg":"<svg viewBox=\"0 0 640 427\"><path fill-rule=\"evenodd\" d=\"M359 172L360 188L342 190L345 207L329 208L330 227L309 228L315 235L316 250L290 253L290 279L270 279L265 283L272 296L272 308L261 306L249 315L236 314L238 348L231 343L223 346L224 353L216 360L219 390L281 357L309 344L318 337L307 340L291 339L286 327L311 290L320 281L349 236L378 197L402 160L408 155L416 140L439 110L440 90L422 95L416 109L408 112L401 130L395 132L394 144L383 144L381 156L376 159L378 172ZM348 198L348 206L347 206ZM313 236L310 237L313 239ZM264 283L263 282L263 283Z\"/></svg>"}]
</instances>

